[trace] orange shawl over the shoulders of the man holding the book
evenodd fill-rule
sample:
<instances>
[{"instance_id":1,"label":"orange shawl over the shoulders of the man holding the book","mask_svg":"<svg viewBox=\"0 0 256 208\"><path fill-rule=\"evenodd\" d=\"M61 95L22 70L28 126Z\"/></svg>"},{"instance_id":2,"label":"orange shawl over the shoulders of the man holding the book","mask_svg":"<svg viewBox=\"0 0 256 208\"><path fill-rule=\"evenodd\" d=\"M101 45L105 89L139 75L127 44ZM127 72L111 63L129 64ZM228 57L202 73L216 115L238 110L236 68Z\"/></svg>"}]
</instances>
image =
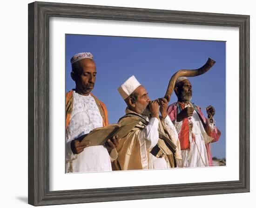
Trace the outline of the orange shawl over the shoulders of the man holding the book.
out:
<instances>
[{"instance_id":1,"label":"orange shawl over the shoulders of the man holding the book","mask_svg":"<svg viewBox=\"0 0 256 208\"><path fill-rule=\"evenodd\" d=\"M74 101L74 99L73 99L73 92L74 92L74 90L72 89L69 92L67 92L67 94L66 94L66 129L67 129L67 126L68 126L68 124L70 122L71 113L72 113L72 110L73 110L73 101ZM101 117L102 117L102 120L103 120L103 126L108 126L108 111L107 111L107 107L95 95L93 95L92 93L90 93L90 95L92 95L94 97L96 105L99 108L99 111L101 113Z\"/></svg>"}]
</instances>

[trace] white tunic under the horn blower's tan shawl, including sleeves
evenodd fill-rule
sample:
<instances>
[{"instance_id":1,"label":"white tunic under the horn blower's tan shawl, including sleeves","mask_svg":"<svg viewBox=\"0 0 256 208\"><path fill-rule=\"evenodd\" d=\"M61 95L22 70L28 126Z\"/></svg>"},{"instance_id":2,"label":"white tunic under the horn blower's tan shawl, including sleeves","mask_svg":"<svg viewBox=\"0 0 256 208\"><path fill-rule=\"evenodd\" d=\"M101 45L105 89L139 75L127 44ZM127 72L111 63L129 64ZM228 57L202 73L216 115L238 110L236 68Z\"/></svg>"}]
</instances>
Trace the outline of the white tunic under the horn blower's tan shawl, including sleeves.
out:
<instances>
[{"instance_id":1,"label":"white tunic under the horn blower's tan shawl, including sleeves","mask_svg":"<svg viewBox=\"0 0 256 208\"><path fill-rule=\"evenodd\" d=\"M148 117L144 117L148 121ZM175 126L171 122L169 116L164 119L165 123L169 128L175 132L175 137L178 139ZM141 144L141 162L143 169L165 169L170 168L169 164L164 157L157 158L151 153L147 156L147 150L153 148L159 139L158 133L159 120L157 118L151 118L148 126L146 126L139 134Z\"/></svg>"}]
</instances>

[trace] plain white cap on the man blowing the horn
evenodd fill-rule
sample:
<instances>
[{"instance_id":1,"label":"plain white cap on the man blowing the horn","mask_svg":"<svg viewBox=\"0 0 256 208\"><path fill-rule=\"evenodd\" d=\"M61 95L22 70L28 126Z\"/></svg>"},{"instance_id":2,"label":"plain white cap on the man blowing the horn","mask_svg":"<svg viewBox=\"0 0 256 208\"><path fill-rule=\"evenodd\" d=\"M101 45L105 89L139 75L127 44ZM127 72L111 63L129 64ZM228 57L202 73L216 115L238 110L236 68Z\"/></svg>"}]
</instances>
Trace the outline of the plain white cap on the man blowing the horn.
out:
<instances>
[{"instance_id":1,"label":"plain white cap on the man blowing the horn","mask_svg":"<svg viewBox=\"0 0 256 208\"><path fill-rule=\"evenodd\" d=\"M141 84L135 78L135 76L131 76L128 80L126 80L117 90L125 100L129 95L133 93L133 91L139 87Z\"/></svg>"}]
</instances>

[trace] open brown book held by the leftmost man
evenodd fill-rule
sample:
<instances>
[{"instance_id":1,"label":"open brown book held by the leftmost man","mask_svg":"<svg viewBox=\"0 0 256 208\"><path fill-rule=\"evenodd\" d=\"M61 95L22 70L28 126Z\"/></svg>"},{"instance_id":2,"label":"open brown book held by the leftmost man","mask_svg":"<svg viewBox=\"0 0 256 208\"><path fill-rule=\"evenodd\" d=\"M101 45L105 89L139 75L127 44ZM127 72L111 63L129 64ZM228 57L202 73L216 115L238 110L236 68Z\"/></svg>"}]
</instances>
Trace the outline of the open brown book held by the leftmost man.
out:
<instances>
[{"instance_id":1,"label":"open brown book held by the leftmost man","mask_svg":"<svg viewBox=\"0 0 256 208\"><path fill-rule=\"evenodd\" d=\"M110 124L108 126L95 128L85 135L83 139L90 141L88 146L104 145L108 139L118 135L119 138L125 137L137 124L139 120L126 121L120 124Z\"/></svg>"}]
</instances>

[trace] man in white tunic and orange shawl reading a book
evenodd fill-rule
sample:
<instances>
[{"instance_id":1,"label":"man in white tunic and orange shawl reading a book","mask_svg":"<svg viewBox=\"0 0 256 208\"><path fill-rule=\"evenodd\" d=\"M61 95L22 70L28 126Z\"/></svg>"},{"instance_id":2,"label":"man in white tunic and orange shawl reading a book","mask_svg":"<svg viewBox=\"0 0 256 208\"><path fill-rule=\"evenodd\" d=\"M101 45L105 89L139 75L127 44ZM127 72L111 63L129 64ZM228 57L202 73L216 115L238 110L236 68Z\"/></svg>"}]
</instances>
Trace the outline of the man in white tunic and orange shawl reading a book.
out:
<instances>
[{"instance_id":1,"label":"man in white tunic and orange shawl reading a book","mask_svg":"<svg viewBox=\"0 0 256 208\"><path fill-rule=\"evenodd\" d=\"M90 52L71 58L71 77L75 89L66 95L66 172L109 171L117 158L116 137L105 145L89 146L85 135L97 127L108 125L105 104L91 91L96 80L96 65Z\"/></svg>"}]
</instances>

